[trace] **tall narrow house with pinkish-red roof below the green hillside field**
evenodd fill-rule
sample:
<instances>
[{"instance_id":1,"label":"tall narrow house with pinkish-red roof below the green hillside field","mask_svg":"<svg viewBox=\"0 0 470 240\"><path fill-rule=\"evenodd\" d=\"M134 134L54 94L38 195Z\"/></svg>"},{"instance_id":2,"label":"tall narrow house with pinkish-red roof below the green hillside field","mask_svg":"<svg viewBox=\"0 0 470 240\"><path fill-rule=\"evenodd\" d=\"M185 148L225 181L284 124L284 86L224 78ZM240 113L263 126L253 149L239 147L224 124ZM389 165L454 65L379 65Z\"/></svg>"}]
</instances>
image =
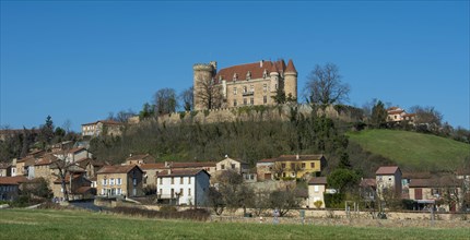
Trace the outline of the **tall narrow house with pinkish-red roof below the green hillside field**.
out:
<instances>
[{"instance_id":1,"label":"tall narrow house with pinkish-red roof below the green hillside field","mask_svg":"<svg viewBox=\"0 0 470 240\"><path fill-rule=\"evenodd\" d=\"M401 170L397 166L379 167L375 172L377 196L401 199Z\"/></svg>"}]
</instances>

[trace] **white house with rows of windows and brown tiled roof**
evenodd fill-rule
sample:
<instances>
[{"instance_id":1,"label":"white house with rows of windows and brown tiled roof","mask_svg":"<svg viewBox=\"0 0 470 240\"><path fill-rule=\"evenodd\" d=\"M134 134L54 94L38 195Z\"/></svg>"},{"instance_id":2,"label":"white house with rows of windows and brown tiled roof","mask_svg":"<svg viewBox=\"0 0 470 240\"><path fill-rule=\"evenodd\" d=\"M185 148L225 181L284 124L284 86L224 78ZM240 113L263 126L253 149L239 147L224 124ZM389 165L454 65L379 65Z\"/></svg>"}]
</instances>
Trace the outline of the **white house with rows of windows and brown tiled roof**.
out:
<instances>
[{"instance_id":1,"label":"white house with rows of windows and brown tiled roof","mask_svg":"<svg viewBox=\"0 0 470 240\"><path fill-rule=\"evenodd\" d=\"M203 169L168 169L158 172L158 200L168 204L204 206L208 203L210 178Z\"/></svg>"}]
</instances>

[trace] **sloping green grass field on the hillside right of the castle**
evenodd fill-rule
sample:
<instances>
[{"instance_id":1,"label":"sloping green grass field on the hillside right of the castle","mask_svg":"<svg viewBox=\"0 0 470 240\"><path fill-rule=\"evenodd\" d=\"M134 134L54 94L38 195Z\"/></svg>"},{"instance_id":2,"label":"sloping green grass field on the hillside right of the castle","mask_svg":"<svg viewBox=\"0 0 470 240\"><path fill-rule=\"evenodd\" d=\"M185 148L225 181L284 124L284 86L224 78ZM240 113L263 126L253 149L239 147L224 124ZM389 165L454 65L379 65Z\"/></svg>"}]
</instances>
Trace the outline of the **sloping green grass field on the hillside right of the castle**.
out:
<instances>
[{"instance_id":1,"label":"sloping green grass field on the hillside right of the castle","mask_svg":"<svg viewBox=\"0 0 470 240\"><path fill-rule=\"evenodd\" d=\"M393 160L402 168L455 170L470 156L470 145L430 134L395 130L348 133L367 152Z\"/></svg>"}]
</instances>

